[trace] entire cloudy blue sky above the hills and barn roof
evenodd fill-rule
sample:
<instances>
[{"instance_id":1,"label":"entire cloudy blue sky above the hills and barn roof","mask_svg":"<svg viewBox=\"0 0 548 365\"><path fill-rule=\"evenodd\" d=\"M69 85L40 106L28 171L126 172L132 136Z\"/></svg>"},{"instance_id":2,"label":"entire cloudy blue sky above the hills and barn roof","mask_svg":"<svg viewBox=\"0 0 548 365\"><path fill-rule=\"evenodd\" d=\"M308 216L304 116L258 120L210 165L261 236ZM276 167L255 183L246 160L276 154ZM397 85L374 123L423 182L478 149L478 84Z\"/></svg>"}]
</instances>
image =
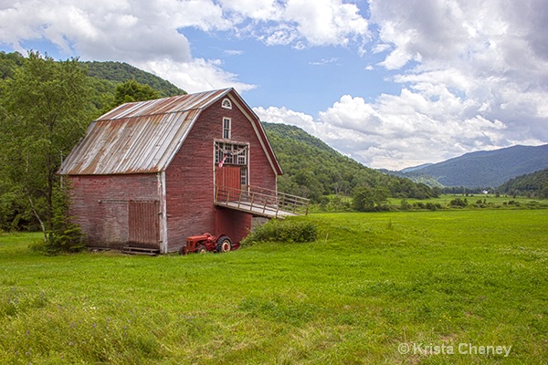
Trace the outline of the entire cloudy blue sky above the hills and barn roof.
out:
<instances>
[{"instance_id":1,"label":"entire cloudy blue sky above the hills and barn roof","mask_svg":"<svg viewBox=\"0 0 548 365\"><path fill-rule=\"evenodd\" d=\"M0 0L0 50L234 87L374 168L548 142L544 0Z\"/></svg>"}]
</instances>

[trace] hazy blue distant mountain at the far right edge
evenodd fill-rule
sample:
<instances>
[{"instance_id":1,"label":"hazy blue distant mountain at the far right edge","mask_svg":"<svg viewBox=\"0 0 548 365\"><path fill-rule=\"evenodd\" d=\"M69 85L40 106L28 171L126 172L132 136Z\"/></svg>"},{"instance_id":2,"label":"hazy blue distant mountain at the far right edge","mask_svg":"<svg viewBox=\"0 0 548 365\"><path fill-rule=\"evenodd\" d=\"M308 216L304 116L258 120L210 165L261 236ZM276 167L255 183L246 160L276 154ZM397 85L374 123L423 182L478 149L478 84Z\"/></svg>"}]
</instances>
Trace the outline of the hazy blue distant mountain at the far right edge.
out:
<instances>
[{"instance_id":1,"label":"hazy blue distant mountain at the far right edge","mask_svg":"<svg viewBox=\"0 0 548 365\"><path fill-rule=\"evenodd\" d=\"M511 178L548 167L548 144L513 146L496 151L476 151L444 162L401 172L417 181L429 175L444 186L491 187ZM408 169L407 169L408 170Z\"/></svg>"}]
</instances>

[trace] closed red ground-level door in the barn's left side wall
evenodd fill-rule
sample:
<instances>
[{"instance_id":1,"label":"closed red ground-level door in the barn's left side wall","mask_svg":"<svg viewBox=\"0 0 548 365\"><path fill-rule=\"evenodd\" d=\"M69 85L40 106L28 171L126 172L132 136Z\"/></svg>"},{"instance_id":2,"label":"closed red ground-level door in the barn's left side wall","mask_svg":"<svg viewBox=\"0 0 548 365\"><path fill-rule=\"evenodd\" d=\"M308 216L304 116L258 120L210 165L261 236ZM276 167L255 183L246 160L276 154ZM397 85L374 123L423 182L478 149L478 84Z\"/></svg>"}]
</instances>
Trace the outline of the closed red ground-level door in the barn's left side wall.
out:
<instances>
[{"instance_id":1,"label":"closed red ground-level door in the barn's left side wall","mask_svg":"<svg viewBox=\"0 0 548 365\"><path fill-rule=\"evenodd\" d=\"M136 246L159 248L160 202L130 201L129 238Z\"/></svg>"}]
</instances>

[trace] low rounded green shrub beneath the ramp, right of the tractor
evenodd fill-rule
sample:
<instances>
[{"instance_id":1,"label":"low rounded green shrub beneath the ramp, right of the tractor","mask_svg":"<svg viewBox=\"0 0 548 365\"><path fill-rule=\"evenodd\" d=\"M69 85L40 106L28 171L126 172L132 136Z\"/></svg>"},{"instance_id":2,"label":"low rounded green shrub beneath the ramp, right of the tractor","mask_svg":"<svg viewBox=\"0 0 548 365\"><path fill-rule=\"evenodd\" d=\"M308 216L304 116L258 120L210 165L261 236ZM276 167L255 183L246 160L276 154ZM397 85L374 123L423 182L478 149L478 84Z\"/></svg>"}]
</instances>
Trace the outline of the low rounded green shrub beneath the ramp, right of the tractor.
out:
<instances>
[{"instance_id":1,"label":"low rounded green shrub beneath the ramp, right of the tractor","mask_svg":"<svg viewBox=\"0 0 548 365\"><path fill-rule=\"evenodd\" d=\"M241 245L253 245L258 242L303 243L316 240L318 226L310 221L272 219L255 228L245 237Z\"/></svg>"}]
</instances>

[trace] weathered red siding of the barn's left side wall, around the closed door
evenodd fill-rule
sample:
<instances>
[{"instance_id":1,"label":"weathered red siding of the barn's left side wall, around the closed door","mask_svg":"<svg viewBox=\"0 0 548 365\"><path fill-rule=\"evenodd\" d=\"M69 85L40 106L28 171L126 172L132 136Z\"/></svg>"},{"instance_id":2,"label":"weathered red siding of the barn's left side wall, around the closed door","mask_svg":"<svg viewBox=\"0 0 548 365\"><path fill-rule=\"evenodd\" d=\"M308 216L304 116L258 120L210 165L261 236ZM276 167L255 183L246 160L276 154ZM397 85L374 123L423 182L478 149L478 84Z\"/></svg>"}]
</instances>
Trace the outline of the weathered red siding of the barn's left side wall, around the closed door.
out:
<instances>
[{"instance_id":1,"label":"weathered red siding of the barn's left side wall, around the closed door","mask_svg":"<svg viewBox=\"0 0 548 365\"><path fill-rule=\"evenodd\" d=\"M121 248L130 242L130 201L159 202L155 173L70 176L70 214L93 247Z\"/></svg>"}]
</instances>

